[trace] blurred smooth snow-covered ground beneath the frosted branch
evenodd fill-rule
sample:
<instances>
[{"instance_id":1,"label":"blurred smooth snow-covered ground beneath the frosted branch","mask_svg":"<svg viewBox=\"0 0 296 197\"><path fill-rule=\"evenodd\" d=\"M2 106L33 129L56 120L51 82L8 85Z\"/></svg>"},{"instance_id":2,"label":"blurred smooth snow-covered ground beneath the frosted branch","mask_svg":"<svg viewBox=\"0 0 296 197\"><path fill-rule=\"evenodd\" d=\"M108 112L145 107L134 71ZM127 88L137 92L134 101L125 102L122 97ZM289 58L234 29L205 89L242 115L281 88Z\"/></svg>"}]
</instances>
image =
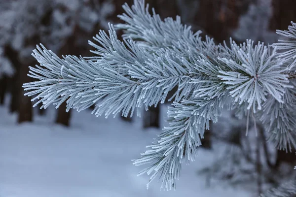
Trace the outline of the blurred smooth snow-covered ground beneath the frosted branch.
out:
<instances>
[{"instance_id":1,"label":"blurred smooth snow-covered ground beneath the frosted branch","mask_svg":"<svg viewBox=\"0 0 296 197\"><path fill-rule=\"evenodd\" d=\"M162 113L165 115L163 107ZM155 180L137 177L143 166L131 162L161 132L143 130L141 121L97 118L89 110L74 112L71 127L53 124L49 108L34 123L16 124L16 115L0 106L0 197L252 197L223 184L206 187L197 170L211 164L211 151L183 165L176 191L160 191ZM254 193L253 193L254 194Z\"/></svg>"}]
</instances>

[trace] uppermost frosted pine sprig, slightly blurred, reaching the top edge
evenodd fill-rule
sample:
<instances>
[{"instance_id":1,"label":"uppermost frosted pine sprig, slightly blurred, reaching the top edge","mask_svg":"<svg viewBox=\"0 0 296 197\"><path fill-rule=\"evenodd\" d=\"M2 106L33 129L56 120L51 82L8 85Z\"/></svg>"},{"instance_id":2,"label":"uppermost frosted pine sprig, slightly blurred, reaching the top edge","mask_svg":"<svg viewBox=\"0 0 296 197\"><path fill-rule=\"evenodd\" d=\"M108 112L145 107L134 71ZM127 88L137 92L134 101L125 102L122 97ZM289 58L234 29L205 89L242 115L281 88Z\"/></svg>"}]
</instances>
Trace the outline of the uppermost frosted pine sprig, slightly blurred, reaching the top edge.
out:
<instances>
[{"instance_id":1,"label":"uppermost frosted pine sprig, slightly blurred, reaching the top edge","mask_svg":"<svg viewBox=\"0 0 296 197\"><path fill-rule=\"evenodd\" d=\"M162 21L154 8L152 15L149 13L145 0L134 0L131 7L127 3L122 7L126 13L118 17L125 23L115 27L124 31L123 38L136 40L152 52L159 48L170 48L183 57L188 57L188 54L211 57L217 52L213 38L206 36L206 40L202 41L201 31L193 33L190 26L181 23L179 16L176 20L169 17Z\"/></svg>"}]
</instances>

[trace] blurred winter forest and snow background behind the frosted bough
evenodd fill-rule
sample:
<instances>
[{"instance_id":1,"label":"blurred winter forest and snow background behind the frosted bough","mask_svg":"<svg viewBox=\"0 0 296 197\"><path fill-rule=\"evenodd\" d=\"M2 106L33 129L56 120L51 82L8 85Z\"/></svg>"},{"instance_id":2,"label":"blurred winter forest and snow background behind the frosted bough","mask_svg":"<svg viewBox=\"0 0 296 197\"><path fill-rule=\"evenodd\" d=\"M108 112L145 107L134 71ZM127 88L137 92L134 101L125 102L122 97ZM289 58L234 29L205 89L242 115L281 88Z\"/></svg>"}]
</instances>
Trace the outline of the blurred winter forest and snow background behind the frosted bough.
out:
<instances>
[{"instance_id":1,"label":"blurred winter forest and snow background behind the frosted bough","mask_svg":"<svg viewBox=\"0 0 296 197\"><path fill-rule=\"evenodd\" d=\"M225 112L185 166L176 192L146 190L148 177L131 160L166 125L169 102L151 107L142 118L95 117L33 108L22 84L31 82L31 53L42 43L58 56L94 56L88 45L108 23L121 21L122 4L133 0L0 0L0 197L253 197L293 179L294 153L275 150L246 121ZM146 0L162 19L181 16L192 31L217 43L246 39L272 44L275 31L296 21L295 0ZM117 32L118 37L122 32ZM253 132L254 133L254 132ZM295 151L294 151L295 152ZM156 182L156 181L155 181Z\"/></svg>"}]
</instances>

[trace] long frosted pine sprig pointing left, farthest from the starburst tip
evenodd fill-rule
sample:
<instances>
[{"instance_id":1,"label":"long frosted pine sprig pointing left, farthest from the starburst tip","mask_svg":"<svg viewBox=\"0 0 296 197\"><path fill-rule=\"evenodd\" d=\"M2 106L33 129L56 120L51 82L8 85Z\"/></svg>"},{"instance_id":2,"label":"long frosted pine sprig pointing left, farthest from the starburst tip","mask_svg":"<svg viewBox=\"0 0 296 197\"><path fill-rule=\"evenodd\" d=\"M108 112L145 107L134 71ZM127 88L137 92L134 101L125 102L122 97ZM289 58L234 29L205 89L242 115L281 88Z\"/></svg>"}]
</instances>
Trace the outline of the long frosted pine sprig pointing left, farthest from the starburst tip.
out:
<instances>
[{"instance_id":1,"label":"long frosted pine sprig pointing left, farthest from the starburst tip","mask_svg":"<svg viewBox=\"0 0 296 197\"><path fill-rule=\"evenodd\" d=\"M96 115L122 111L123 116L132 116L135 108L164 102L175 86L175 101L190 94L190 80L201 77L193 72L193 64L168 49L150 55L132 40L124 44L110 28L110 36L103 31L97 36L101 46L92 43L99 55L95 62L74 56L60 59L44 47L37 47L33 55L40 66L31 67L30 76L40 81L24 84L25 90L35 90L26 95L42 98L37 102L43 102L42 107L50 103L59 106L69 98L67 110L78 111L101 99L94 109Z\"/></svg>"}]
</instances>

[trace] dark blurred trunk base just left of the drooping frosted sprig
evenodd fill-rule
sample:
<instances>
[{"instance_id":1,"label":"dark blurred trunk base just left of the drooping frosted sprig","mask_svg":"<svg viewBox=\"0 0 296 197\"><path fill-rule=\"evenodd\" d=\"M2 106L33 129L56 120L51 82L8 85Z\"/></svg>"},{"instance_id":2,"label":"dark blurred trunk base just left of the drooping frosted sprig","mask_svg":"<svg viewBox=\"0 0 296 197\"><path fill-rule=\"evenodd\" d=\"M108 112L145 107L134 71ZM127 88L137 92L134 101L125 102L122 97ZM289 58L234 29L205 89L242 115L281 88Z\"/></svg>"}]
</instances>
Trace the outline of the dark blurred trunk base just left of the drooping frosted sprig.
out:
<instances>
[{"instance_id":1,"label":"dark blurred trunk base just left of the drooping frosted sprig","mask_svg":"<svg viewBox=\"0 0 296 197\"><path fill-rule=\"evenodd\" d=\"M156 107L151 106L149 107L148 111L144 112L144 128L149 128L149 127L160 127L159 123L159 114L160 114L160 109L159 109L159 103Z\"/></svg>"}]
</instances>

